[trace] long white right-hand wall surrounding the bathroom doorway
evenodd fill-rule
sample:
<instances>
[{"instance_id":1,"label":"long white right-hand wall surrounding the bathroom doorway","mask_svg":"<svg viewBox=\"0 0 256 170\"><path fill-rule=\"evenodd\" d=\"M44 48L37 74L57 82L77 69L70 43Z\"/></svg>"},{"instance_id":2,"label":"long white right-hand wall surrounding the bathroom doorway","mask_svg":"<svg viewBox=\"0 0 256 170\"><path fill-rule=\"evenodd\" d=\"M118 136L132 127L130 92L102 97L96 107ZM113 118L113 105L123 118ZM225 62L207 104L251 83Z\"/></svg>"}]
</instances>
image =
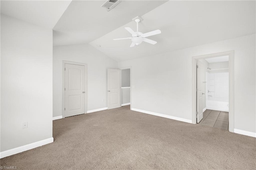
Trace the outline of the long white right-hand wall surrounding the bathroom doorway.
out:
<instances>
[{"instance_id":1,"label":"long white right-hand wall surrounding the bathroom doorway","mask_svg":"<svg viewBox=\"0 0 256 170\"><path fill-rule=\"evenodd\" d=\"M119 62L118 67L132 66L132 107L192 120L192 57L230 50L234 128L256 132L255 34Z\"/></svg>"}]
</instances>

